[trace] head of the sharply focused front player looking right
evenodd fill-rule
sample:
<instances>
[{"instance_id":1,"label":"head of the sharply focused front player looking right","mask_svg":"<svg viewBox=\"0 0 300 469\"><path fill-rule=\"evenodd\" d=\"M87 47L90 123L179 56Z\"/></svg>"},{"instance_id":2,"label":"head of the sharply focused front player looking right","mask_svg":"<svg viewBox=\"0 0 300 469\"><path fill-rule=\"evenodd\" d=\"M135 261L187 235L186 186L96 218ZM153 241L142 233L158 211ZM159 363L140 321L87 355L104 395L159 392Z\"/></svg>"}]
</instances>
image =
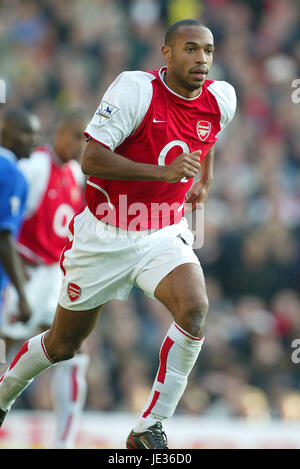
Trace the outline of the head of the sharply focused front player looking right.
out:
<instances>
[{"instance_id":1,"label":"head of the sharply focused front player looking right","mask_svg":"<svg viewBox=\"0 0 300 469\"><path fill-rule=\"evenodd\" d=\"M197 96L212 65L213 52L214 39L209 29L181 27L173 44L163 47L168 86L182 96Z\"/></svg>"}]
</instances>

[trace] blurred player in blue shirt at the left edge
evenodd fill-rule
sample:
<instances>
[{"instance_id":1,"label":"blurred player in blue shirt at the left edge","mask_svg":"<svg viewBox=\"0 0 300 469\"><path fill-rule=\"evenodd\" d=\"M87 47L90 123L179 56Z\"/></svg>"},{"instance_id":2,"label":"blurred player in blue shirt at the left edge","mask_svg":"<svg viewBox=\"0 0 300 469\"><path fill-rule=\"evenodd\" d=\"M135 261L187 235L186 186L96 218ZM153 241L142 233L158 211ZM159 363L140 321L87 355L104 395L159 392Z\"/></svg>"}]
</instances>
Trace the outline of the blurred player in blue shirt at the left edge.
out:
<instances>
[{"instance_id":1,"label":"blurred player in blue shirt at the left edge","mask_svg":"<svg viewBox=\"0 0 300 469\"><path fill-rule=\"evenodd\" d=\"M23 289L24 272L14 238L21 227L27 197L27 182L17 161L28 158L39 130L38 119L26 110L9 110L0 131L0 313L8 281L19 296L19 319L27 321L30 307ZM0 314L1 321L1 314Z\"/></svg>"}]
</instances>

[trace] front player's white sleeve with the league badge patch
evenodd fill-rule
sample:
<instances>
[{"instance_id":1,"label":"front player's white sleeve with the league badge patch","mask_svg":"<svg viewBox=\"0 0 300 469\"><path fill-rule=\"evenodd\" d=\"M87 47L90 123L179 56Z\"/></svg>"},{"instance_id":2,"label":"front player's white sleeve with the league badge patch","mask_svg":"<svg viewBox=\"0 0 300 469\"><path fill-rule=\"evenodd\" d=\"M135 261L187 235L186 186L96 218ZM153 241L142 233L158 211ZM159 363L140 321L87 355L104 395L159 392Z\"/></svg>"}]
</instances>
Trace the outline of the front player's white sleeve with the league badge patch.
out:
<instances>
[{"instance_id":1,"label":"front player's white sleeve with the league badge patch","mask_svg":"<svg viewBox=\"0 0 300 469\"><path fill-rule=\"evenodd\" d=\"M152 99L147 72L123 72L110 85L85 135L114 151L142 123Z\"/></svg>"}]
</instances>

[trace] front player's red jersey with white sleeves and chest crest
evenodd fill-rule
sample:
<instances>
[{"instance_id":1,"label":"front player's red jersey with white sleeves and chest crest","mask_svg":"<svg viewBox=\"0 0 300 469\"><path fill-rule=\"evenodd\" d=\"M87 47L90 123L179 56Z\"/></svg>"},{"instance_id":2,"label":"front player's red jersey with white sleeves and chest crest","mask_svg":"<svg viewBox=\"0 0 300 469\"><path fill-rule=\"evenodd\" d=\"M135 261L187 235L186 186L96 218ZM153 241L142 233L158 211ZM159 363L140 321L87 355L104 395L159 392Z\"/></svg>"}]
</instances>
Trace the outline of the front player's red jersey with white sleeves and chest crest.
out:
<instances>
[{"instance_id":1,"label":"front player's red jersey with white sleeves and chest crest","mask_svg":"<svg viewBox=\"0 0 300 469\"><path fill-rule=\"evenodd\" d=\"M202 151L203 160L234 116L234 88L225 81L206 80L197 97L184 98L167 87L165 71L119 75L87 126L86 137L140 163L168 165L183 151L195 150ZM86 201L105 223L127 230L158 229L180 221L192 182L90 177Z\"/></svg>"}]
</instances>

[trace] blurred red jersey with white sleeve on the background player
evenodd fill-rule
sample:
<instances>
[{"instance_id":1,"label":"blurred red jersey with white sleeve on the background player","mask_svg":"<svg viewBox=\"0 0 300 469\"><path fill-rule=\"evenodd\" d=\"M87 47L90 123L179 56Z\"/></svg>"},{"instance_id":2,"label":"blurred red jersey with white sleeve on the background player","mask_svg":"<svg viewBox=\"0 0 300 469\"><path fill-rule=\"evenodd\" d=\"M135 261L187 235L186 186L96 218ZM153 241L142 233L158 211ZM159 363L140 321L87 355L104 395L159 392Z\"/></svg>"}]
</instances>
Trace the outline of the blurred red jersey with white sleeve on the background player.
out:
<instances>
[{"instance_id":1,"label":"blurred red jersey with white sleeve on the background player","mask_svg":"<svg viewBox=\"0 0 300 469\"><path fill-rule=\"evenodd\" d=\"M45 146L20 160L18 166L29 186L18 250L33 264L56 263L68 242L69 223L84 203L80 165L73 160L62 163Z\"/></svg>"}]
</instances>

